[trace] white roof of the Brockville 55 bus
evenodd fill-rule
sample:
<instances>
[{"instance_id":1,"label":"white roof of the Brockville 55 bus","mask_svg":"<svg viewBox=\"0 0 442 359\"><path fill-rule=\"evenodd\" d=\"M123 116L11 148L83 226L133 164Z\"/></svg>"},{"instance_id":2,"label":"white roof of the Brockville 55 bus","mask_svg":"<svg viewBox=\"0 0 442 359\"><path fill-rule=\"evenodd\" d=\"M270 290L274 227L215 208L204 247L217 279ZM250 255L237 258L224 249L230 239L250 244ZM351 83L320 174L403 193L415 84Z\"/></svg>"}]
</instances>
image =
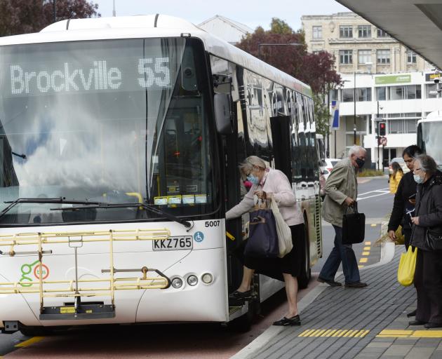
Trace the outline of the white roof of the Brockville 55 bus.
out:
<instances>
[{"instance_id":1,"label":"white roof of the Brockville 55 bus","mask_svg":"<svg viewBox=\"0 0 442 359\"><path fill-rule=\"evenodd\" d=\"M208 53L236 63L269 80L312 96L311 88L275 67L246 53L236 46L209 34L191 22L168 15L136 15L116 18L69 19L55 22L39 33L5 36L0 46L87 41L192 36L201 39Z\"/></svg>"}]
</instances>

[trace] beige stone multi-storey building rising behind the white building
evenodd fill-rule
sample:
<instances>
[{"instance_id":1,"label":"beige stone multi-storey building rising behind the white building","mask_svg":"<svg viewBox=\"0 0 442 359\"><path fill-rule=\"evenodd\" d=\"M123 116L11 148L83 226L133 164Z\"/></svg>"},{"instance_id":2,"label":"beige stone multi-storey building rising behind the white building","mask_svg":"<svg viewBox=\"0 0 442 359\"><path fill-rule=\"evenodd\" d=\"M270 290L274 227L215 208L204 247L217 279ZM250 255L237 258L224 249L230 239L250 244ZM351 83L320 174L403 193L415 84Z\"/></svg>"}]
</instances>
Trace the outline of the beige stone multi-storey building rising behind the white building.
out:
<instances>
[{"instance_id":1,"label":"beige stone multi-storey building rising behind the white building","mask_svg":"<svg viewBox=\"0 0 442 359\"><path fill-rule=\"evenodd\" d=\"M301 20L309 52L333 54L336 71L341 74L431 68L422 57L355 13L304 15Z\"/></svg>"}]
</instances>

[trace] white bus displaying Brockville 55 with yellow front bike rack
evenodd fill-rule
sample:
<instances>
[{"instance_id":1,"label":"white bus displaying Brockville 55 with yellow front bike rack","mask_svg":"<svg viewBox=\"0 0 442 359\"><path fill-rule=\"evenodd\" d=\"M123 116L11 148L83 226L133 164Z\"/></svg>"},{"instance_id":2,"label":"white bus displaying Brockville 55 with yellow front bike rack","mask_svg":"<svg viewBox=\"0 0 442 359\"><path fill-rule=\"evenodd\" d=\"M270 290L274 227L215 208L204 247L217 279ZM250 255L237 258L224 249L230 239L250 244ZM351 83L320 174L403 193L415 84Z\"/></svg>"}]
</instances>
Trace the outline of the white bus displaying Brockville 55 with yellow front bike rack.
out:
<instances>
[{"instance_id":1,"label":"white bus displaying Brockville 55 with yellow front bike rack","mask_svg":"<svg viewBox=\"0 0 442 359\"><path fill-rule=\"evenodd\" d=\"M282 287L255 276L254 299L229 305L247 231L225 211L252 154L292 179L307 285L322 247L304 83L163 15L3 37L0 64L3 332L247 323Z\"/></svg>"}]
</instances>

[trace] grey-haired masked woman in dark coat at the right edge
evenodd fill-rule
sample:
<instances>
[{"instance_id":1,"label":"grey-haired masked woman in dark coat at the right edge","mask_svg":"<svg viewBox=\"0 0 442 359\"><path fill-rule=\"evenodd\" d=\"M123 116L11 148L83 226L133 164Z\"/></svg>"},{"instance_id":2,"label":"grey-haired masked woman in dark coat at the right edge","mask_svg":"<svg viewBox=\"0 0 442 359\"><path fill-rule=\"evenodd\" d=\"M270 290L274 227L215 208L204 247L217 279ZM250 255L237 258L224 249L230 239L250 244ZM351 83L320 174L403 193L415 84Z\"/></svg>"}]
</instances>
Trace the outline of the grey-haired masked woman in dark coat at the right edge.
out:
<instances>
[{"instance_id":1,"label":"grey-haired masked woman in dark coat at the right edge","mask_svg":"<svg viewBox=\"0 0 442 359\"><path fill-rule=\"evenodd\" d=\"M432 248L431 238L442 242L442 172L427 155L414 161L417 182L411 243L417 248L414 283L417 292L416 319L409 325L442 327L442 248Z\"/></svg>"}]
</instances>

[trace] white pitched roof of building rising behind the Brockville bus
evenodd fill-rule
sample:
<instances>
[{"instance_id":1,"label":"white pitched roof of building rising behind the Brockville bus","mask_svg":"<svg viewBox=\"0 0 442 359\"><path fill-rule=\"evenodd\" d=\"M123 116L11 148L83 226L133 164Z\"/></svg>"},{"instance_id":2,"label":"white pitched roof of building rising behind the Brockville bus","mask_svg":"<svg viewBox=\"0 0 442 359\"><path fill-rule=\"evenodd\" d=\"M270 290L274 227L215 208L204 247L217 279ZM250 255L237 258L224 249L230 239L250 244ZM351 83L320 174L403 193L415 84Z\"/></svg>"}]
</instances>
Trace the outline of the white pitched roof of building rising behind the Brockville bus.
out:
<instances>
[{"instance_id":1,"label":"white pitched roof of building rising behind the Brockville bus","mask_svg":"<svg viewBox=\"0 0 442 359\"><path fill-rule=\"evenodd\" d=\"M232 43L232 45L241 41L246 34L253 33L253 29L250 29L247 25L230 20L221 15L215 15L213 18L201 22L198 27L228 43Z\"/></svg>"}]
</instances>

